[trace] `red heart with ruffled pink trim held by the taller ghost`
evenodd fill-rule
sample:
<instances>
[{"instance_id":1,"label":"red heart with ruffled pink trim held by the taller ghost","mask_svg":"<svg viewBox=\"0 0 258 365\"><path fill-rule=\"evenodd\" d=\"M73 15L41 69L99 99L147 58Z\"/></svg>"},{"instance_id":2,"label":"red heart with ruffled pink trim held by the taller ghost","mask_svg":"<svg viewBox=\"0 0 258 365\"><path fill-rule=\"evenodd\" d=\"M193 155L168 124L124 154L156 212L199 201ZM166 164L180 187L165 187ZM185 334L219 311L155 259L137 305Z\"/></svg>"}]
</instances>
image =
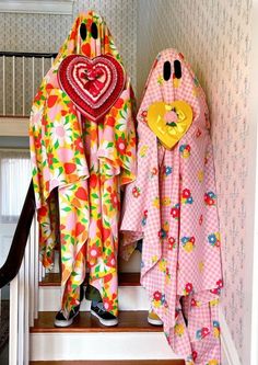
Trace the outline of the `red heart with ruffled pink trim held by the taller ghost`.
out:
<instances>
[{"instance_id":1,"label":"red heart with ruffled pink trim held by the taller ghost","mask_svg":"<svg viewBox=\"0 0 258 365\"><path fill-rule=\"evenodd\" d=\"M124 90L122 66L112 56L69 55L59 66L60 88L91 121L104 116Z\"/></svg>"}]
</instances>

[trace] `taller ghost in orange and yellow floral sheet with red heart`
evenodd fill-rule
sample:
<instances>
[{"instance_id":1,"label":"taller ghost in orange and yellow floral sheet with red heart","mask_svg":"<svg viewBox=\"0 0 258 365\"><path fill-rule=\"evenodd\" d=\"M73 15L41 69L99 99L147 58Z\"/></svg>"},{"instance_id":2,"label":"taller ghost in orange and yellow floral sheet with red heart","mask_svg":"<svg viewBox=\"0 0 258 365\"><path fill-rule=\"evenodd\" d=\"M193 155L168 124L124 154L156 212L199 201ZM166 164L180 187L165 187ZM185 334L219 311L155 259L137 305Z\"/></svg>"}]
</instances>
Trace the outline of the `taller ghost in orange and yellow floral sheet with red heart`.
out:
<instances>
[{"instance_id":1,"label":"taller ghost in orange and yellow floral sheet with red heart","mask_svg":"<svg viewBox=\"0 0 258 365\"><path fill-rule=\"evenodd\" d=\"M117 316L120 187L136 178L132 105L104 20L80 14L42 81L30 123L40 258L51 267L60 238L66 318L80 304L86 270Z\"/></svg>"}]
</instances>

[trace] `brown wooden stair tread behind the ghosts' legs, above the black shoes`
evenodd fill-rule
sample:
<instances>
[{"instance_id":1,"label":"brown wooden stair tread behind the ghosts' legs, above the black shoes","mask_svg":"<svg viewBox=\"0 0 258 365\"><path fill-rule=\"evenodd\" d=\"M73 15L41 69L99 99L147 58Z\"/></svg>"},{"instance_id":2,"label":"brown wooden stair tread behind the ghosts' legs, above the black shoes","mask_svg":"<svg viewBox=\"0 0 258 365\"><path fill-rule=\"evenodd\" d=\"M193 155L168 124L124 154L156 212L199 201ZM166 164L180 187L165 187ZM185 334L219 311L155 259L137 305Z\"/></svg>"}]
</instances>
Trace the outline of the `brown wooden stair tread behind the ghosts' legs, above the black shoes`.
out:
<instances>
[{"instance_id":1,"label":"brown wooden stair tread behind the ghosts' legs, above the black shoes","mask_svg":"<svg viewBox=\"0 0 258 365\"><path fill-rule=\"evenodd\" d=\"M60 286L61 275L60 273L48 273L39 282L39 286ZM140 273L119 273L118 275L119 286L140 286Z\"/></svg>"}]
</instances>

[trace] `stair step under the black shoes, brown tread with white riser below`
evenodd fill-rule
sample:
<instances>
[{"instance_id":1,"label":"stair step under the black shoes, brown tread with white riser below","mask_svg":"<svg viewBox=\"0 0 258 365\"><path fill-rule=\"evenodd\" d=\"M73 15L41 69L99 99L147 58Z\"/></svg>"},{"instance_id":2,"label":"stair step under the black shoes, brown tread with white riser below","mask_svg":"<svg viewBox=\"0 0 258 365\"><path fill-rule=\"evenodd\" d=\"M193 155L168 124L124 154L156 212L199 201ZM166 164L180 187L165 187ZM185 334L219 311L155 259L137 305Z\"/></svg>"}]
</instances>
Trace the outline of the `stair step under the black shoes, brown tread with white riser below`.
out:
<instances>
[{"instance_id":1,"label":"stair step under the black shoes, brown tread with white riser below","mask_svg":"<svg viewBox=\"0 0 258 365\"><path fill-rule=\"evenodd\" d=\"M120 311L119 324L110 328L102 326L89 312L81 312L69 328L55 328L55 315L56 312L39 312L35 326L31 328L31 361L86 358L89 362L99 361L99 364L105 364L104 361L122 364L126 360L183 358L173 353L163 328L148 323L148 311Z\"/></svg>"}]
</instances>

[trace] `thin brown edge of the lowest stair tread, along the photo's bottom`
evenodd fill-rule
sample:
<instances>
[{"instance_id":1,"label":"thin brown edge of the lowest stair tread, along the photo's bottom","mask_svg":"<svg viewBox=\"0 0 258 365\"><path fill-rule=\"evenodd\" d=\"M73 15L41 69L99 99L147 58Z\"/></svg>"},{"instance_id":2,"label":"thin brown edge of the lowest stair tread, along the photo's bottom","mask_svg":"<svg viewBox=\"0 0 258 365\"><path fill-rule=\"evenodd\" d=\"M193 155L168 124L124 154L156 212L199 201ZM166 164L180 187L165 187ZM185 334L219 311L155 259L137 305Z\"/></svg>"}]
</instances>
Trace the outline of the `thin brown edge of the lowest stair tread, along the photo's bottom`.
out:
<instances>
[{"instance_id":1,"label":"thin brown edge of the lowest stair tread, along the photo's bottom","mask_svg":"<svg viewBox=\"0 0 258 365\"><path fill-rule=\"evenodd\" d=\"M57 361L30 362L30 365L185 365L184 360L115 360L115 361Z\"/></svg>"}]
</instances>

